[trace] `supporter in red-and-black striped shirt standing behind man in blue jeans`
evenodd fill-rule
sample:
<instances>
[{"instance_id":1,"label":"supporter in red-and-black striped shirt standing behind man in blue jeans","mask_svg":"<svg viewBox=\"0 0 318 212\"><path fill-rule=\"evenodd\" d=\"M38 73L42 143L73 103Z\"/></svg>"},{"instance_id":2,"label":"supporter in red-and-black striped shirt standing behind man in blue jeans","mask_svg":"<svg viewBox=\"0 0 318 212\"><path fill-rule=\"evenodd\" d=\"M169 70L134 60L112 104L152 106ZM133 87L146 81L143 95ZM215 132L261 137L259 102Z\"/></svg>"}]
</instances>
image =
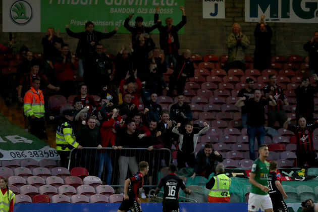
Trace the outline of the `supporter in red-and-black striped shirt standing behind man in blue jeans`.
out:
<instances>
[{"instance_id":1,"label":"supporter in red-and-black striped shirt standing behind man in blue jeans","mask_svg":"<svg viewBox=\"0 0 318 212\"><path fill-rule=\"evenodd\" d=\"M273 96L273 99L276 101L276 105L268 105L268 127L273 128L276 121L278 121L280 127L283 127L283 124L287 119L286 112L283 109L283 102L286 105L288 105L288 102L284 95L283 88L276 84L276 75L270 74L269 80L270 84L264 87L264 94L266 98L269 98L270 95Z\"/></svg>"}]
</instances>

